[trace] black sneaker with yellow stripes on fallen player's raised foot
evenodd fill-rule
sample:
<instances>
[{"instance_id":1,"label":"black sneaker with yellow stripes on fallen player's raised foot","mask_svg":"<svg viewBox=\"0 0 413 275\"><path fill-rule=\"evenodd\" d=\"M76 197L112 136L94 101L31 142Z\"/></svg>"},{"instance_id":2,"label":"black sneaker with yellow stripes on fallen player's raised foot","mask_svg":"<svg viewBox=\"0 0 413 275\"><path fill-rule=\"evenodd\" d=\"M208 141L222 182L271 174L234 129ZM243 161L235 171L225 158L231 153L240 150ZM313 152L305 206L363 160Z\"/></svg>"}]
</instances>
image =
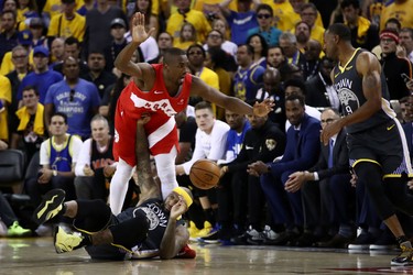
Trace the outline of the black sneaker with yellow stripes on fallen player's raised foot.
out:
<instances>
[{"instance_id":1,"label":"black sneaker with yellow stripes on fallen player's raised foot","mask_svg":"<svg viewBox=\"0 0 413 275\"><path fill-rule=\"evenodd\" d=\"M42 204L33 212L33 221L42 224L53 217L56 217L63 209L63 201L66 193L62 189L53 189L46 193L43 197Z\"/></svg>"}]
</instances>

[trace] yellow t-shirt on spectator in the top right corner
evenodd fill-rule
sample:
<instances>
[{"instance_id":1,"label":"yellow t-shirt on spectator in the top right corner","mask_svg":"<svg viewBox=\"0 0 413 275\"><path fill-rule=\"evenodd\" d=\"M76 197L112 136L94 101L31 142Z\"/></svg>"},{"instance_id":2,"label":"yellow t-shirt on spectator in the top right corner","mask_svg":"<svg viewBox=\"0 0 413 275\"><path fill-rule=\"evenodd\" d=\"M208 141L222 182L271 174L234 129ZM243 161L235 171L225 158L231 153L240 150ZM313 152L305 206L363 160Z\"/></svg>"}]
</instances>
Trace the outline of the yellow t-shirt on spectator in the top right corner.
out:
<instances>
[{"instance_id":1,"label":"yellow t-shirt on spectator in the top right corner","mask_svg":"<svg viewBox=\"0 0 413 275\"><path fill-rule=\"evenodd\" d=\"M413 28L413 0L407 0L404 3L391 3L384 7L380 16L380 30L384 29L385 21L395 18L402 24L402 28Z\"/></svg>"}]
</instances>

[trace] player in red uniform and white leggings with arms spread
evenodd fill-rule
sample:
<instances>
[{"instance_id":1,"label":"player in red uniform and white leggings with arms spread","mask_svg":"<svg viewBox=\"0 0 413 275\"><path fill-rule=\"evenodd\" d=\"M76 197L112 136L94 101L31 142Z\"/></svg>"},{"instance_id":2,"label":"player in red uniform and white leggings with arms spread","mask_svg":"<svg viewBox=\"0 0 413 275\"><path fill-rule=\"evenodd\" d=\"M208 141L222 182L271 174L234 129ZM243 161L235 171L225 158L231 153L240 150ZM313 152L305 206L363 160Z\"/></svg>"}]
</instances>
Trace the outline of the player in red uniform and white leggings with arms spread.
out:
<instances>
[{"instance_id":1,"label":"player in red uniform and white leggings with arms spread","mask_svg":"<svg viewBox=\"0 0 413 275\"><path fill-rule=\"evenodd\" d=\"M119 158L117 170L110 184L110 207L119 213L127 193L127 183L135 165L134 144L135 121L141 113L150 113L151 121L145 125L151 154L159 167L162 195L165 197L177 186L175 156L178 138L174 116L184 110L189 95L217 103L241 114L265 116L272 107L270 100L253 108L241 100L227 97L207 86L188 72L188 59L177 48L165 51L163 64L134 64L131 62L137 47L153 32L144 30L144 15L137 13L132 20L132 42L118 55L115 65L122 73L133 77L119 97L115 114L113 156ZM162 173L161 173L162 168Z\"/></svg>"}]
</instances>

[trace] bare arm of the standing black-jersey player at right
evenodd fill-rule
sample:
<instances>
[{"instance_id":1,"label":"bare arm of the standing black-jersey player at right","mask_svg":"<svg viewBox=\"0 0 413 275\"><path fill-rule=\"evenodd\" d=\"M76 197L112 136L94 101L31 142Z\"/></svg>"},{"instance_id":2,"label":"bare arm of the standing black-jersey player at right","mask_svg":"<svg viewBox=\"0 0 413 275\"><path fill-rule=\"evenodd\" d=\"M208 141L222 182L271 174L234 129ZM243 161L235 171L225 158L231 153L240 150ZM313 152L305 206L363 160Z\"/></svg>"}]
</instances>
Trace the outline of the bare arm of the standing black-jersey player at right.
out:
<instances>
[{"instance_id":1,"label":"bare arm of the standing black-jersey player at right","mask_svg":"<svg viewBox=\"0 0 413 275\"><path fill-rule=\"evenodd\" d=\"M381 66L379 61L371 53L365 52L357 57L356 68L357 73L362 76L362 92L367 101L354 113L326 125L320 136L325 145L327 145L328 140L343 128L369 119L381 108L382 82L380 78Z\"/></svg>"}]
</instances>

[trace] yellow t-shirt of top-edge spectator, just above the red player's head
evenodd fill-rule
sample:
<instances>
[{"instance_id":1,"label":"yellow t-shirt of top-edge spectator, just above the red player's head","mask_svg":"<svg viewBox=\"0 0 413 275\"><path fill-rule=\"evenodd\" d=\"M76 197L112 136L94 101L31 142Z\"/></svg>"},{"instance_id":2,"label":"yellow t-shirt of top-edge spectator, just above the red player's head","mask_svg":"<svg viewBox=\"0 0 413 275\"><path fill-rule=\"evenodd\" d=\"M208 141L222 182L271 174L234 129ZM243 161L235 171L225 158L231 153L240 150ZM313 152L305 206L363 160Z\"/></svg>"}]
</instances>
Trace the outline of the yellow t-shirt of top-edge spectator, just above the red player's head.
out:
<instances>
[{"instance_id":1,"label":"yellow t-shirt of top-edge spectator, just above the red player's head","mask_svg":"<svg viewBox=\"0 0 413 275\"><path fill-rule=\"evenodd\" d=\"M204 42L208 32L210 32L211 28L204 16L204 13L196 10L191 10L185 15L186 22L189 22L195 26L197 41ZM180 32L182 24L184 23L184 16L178 12L171 14L170 19L167 20L166 32L171 34L174 40L180 40Z\"/></svg>"}]
</instances>

